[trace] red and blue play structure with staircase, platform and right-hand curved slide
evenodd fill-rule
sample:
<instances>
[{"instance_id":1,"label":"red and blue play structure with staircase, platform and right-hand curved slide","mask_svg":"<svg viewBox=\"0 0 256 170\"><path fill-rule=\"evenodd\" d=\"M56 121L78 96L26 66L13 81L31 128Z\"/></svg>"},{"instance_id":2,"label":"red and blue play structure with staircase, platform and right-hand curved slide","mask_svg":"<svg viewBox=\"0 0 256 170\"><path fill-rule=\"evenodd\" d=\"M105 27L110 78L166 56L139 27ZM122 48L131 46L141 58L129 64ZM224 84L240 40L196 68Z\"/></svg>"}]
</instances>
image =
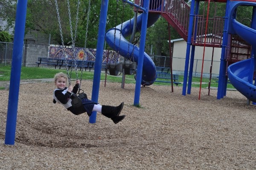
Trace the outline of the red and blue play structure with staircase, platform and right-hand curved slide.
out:
<instances>
[{"instance_id":1,"label":"red and blue play structure with staircase, platform and right-hand curved slide","mask_svg":"<svg viewBox=\"0 0 256 170\"><path fill-rule=\"evenodd\" d=\"M182 94L186 95L186 90L187 94L191 93L195 46L221 47L221 66L217 99L221 99L226 95L227 81L229 78L230 82L239 92L250 101L256 101L256 96L254 95L256 87L252 85L255 66L254 29L256 27L256 1L212 1L213 3L227 3L225 16L214 16L213 18L208 17L210 1L208 1L208 9L204 10L204 12L207 13L207 17L198 14L199 2L200 1L192 0L191 6L189 7L183 0L152 0L149 5L150 14L162 15L168 23L176 29L180 36L187 41ZM143 1L136 0L135 3L143 4ZM236 21L236 9L238 6L253 6L251 28ZM202 58L204 61L204 54ZM241 61L244 59L247 60ZM230 66L232 63L233 65ZM202 63L202 71L203 66L204 62ZM228 66L230 66L229 69L227 69Z\"/></svg>"}]
</instances>

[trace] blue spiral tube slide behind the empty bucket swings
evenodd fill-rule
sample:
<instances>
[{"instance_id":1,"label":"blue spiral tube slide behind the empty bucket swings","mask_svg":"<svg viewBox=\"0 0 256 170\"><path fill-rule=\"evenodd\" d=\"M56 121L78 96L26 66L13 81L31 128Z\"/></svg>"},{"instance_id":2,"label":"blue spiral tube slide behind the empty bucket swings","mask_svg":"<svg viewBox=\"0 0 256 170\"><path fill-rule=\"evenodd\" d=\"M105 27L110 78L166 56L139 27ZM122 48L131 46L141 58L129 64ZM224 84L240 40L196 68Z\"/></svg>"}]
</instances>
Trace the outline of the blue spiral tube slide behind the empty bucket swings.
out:
<instances>
[{"instance_id":1,"label":"blue spiral tube slide behind the empty bucket swings","mask_svg":"<svg viewBox=\"0 0 256 170\"><path fill-rule=\"evenodd\" d=\"M159 14L148 14L148 23L147 28L153 25L158 18ZM132 60L134 62L138 62L139 56L139 47L134 46L132 43L129 43L128 40L125 39L128 35L131 35L133 31L134 18L131 20L127 20L124 23L116 26L115 28L109 29L105 34L105 40L108 45L116 52L119 52L120 55L127 58L128 60ZM142 14L137 17L136 24L136 32L140 31L142 26ZM121 30L122 27L122 30ZM132 58L133 57L133 58ZM136 76L135 76L136 78ZM152 59L144 52L143 56L143 71L142 71L142 85L151 85L157 78L156 66Z\"/></svg>"}]
</instances>

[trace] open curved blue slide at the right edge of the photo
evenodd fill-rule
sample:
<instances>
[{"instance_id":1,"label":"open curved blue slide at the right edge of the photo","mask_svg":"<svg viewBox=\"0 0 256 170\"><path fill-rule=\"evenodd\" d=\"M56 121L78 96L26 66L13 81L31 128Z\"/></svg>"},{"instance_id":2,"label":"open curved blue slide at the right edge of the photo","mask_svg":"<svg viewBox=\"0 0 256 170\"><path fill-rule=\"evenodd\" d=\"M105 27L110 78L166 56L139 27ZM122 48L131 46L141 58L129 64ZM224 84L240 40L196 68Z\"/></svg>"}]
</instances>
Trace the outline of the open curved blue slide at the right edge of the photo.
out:
<instances>
[{"instance_id":1,"label":"open curved blue slide at the right edge of the photo","mask_svg":"<svg viewBox=\"0 0 256 170\"><path fill-rule=\"evenodd\" d=\"M255 48L256 30L244 26L235 19L232 20L232 26L237 35ZM254 67L255 58L250 58L231 64L227 72L231 84L250 101L256 102L256 86L252 84Z\"/></svg>"}]
</instances>

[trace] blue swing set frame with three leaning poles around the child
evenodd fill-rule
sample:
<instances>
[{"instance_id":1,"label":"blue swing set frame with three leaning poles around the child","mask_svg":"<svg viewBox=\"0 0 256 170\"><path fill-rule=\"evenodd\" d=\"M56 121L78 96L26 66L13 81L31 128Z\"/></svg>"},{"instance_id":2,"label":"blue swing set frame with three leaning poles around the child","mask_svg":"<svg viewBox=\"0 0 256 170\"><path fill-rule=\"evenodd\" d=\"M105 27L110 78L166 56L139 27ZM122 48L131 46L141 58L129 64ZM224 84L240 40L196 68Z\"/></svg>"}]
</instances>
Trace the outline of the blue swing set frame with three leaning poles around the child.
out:
<instances>
[{"instance_id":1,"label":"blue swing set frame with three leaning poles around the child","mask_svg":"<svg viewBox=\"0 0 256 170\"><path fill-rule=\"evenodd\" d=\"M133 2L128 0L123 0L133 6L138 6ZM145 48L145 36L147 29L147 20L148 20L148 6L149 0L145 0L143 3L143 8L138 6L143 10L143 22L141 29L140 37L140 50L139 55L143 56ZM11 68L11 77L10 77L10 90L9 90L9 102L8 102L8 111L6 118L6 137L5 144L13 145L15 142L15 130L17 122L17 107L18 107L18 95L20 89L20 74L21 74L21 63L22 63L22 52L23 52L23 39L25 35L25 23L26 23L26 7L27 0L18 0L17 1L17 12L15 19L15 36L14 36L14 47L13 47L13 56L12 68ZM104 0L104 3L101 4L100 10L100 22L99 22L99 32L98 32L98 41L97 41L97 53L95 61L95 70L93 77L93 89L92 89L92 101L98 102L99 97L99 84L100 84L100 75L101 75L101 66L102 66L102 56L104 41L101 40L105 36L105 29L107 23L107 12L108 12L108 0ZM139 105L140 99L140 83L142 80L142 66L143 58L138 60L138 69L137 69L137 81L135 87L135 97L134 105ZM93 112L89 119L90 123L96 122L96 112Z\"/></svg>"}]
</instances>

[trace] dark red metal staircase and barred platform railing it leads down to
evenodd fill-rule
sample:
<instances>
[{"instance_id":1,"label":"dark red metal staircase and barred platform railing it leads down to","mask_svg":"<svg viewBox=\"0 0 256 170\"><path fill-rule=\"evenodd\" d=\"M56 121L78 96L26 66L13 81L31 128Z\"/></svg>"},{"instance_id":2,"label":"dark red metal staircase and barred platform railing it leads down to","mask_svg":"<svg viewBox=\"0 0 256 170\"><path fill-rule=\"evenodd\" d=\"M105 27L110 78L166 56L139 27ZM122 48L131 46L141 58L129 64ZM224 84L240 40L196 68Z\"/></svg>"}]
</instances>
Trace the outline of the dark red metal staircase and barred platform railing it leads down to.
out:
<instances>
[{"instance_id":1,"label":"dark red metal staircase and barred platform railing it leads down to","mask_svg":"<svg viewBox=\"0 0 256 170\"><path fill-rule=\"evenodd\" d=\"M135 0L141 6L143 0ZM183 0L151 0L150 13L161 14L166 21L187 41L189 29L190 7ZM207 32L206 18L203 15L194 15L192 44L196 46L204 45L204 35L207 36L206 46L221 47L222 30L224 27L223 17L209 18ZM193 38L194 37L194 38Z\"/></svg>"}]
</instances>

